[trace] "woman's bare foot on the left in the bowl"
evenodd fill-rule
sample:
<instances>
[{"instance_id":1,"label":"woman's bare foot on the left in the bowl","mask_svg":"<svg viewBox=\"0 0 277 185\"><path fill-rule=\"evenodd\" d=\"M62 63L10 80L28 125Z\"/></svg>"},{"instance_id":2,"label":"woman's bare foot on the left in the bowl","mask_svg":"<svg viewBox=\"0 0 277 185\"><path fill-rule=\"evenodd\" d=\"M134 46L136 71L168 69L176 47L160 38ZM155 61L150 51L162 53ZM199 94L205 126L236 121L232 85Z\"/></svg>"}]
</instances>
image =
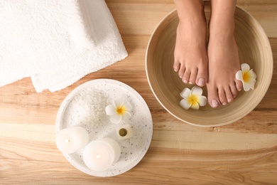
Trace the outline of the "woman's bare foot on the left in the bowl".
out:
<instances>
[{"instance_id":1,"label":"woman's bare foot on the left in the bowl","mask_svg":"<svg viewBox=\"0 0 277 185\"><path fill-rule=\"evenodd\" d=\"M175 0L180 19L173 69L184 83L207 83L206 19L202 1Z\"/></svg>"}]
</instances>

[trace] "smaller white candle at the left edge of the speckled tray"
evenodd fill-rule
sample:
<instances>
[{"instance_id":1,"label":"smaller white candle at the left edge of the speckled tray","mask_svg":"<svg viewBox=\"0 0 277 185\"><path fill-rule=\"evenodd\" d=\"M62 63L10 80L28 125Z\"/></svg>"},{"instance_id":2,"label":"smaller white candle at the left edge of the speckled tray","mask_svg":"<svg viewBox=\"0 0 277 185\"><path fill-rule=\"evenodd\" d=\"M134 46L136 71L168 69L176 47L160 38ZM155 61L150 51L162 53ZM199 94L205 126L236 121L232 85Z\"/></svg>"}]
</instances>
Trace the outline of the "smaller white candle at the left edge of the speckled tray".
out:
<instances>
[{"instance_id":1,"label":"smaller white candle at the left edge of the speckled tray","mask_svg":"<svg viewBox=\"0 0 277 185\"><path fill-rule=\"evenodd\" d=\"M60 152L72 154L89 142L89 134L83 127L70 127L60 130L56 136L56 145Z\"/></svg>"}]
</instances>

